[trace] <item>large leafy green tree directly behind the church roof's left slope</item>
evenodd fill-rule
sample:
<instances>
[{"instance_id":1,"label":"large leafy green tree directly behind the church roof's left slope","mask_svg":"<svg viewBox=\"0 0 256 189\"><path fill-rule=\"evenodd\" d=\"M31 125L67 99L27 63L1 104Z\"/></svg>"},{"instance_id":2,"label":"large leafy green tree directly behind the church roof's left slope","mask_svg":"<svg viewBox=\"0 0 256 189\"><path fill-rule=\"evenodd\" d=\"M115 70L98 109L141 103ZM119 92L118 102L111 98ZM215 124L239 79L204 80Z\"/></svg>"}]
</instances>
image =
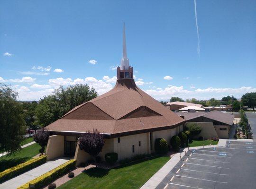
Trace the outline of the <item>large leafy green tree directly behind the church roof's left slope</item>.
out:
<instances>
[{"instance_id":1,"label":"large leafy green tree directly behind the church roof's left slope","mask_svg":"<svg viewBox=\"0 0 256 189\"><path fill-rule=\"evenodd\" d=\"M61 118L75 106L85 103L98 96L94 88L86 85L74 85L56 89L52 95L39 101L36 109L37 124L45 127Z\"/></svg>"}]
</instances>

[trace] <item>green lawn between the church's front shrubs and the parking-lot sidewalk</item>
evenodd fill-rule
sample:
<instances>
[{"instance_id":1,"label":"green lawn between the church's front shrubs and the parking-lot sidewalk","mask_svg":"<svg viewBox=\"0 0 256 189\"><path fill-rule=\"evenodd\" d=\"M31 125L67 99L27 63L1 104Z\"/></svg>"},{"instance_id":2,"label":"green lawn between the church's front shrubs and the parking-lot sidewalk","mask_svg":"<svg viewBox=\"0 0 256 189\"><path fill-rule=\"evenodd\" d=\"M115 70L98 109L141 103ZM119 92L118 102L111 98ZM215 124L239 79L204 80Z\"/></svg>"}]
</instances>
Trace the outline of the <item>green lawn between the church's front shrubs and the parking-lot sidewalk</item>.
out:
<instances>
[{"instance_id":1,"label":"green lawn between the church's front shrubs and the parking-lot sidewalk","mask_svg":"<svg viewBox=\"0 0 256 189\"><path fill-rule=\"evenodd\" d=\"M169 157L158 157L110 170L92 168L64 183L58 189L139 189L169 159Z\"/></svg>"}]
</instances>

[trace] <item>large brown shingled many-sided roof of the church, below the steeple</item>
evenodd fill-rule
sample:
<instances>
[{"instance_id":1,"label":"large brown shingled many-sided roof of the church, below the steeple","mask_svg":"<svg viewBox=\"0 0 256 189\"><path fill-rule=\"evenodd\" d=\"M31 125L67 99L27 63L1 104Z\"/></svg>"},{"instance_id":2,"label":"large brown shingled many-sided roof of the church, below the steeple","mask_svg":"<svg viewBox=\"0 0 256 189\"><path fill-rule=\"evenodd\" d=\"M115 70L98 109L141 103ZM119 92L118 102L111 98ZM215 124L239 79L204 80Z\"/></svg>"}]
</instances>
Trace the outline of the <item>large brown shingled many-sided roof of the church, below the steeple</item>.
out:
<instances>
[{"instance_id":1,"label":"large brown shingled many-sided roof of the church, below the steeple","mask_svg":"<svg viewBox=\"0 0 256 189\"><path fill-rule=\"evenodd\" d=\"M52 131L86 132L98 129L117 134L163 129L184 120L138 88L134 79L119 79L112 90L83 103L47 128Z\"/></svg>"}]
</instances>

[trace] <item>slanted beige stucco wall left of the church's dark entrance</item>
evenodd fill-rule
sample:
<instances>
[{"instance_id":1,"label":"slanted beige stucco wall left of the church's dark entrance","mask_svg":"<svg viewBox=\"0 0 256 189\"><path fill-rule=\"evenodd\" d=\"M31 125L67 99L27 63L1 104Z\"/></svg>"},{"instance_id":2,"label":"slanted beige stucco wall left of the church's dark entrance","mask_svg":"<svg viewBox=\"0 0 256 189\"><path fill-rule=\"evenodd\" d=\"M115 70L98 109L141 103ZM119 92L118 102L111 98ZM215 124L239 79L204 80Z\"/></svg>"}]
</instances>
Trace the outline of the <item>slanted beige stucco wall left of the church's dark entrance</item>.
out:
<instances>
[{"instance_id":1,"label":"slanted beige stucco wall left of the church's dark entrance","mask_svg":"<svg viewBox=\"0 0 256 189\"><path fill-rule=\"evenodd\" d=\"M64 136L52 135L46 146L47 160L64 155Z\"/></svg>"}]
</instances>

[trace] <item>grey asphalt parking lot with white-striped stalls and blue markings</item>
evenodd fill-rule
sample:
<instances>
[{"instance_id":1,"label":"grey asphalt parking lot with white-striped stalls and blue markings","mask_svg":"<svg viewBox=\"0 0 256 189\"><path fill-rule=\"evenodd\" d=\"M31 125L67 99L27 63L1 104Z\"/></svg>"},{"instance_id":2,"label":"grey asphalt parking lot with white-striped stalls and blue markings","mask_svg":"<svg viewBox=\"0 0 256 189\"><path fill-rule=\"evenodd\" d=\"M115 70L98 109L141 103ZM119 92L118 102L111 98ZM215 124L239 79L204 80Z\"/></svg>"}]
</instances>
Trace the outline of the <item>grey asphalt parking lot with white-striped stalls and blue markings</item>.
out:
<instances>
[{"instance_id":1,"label":"grey asphalt parking lot with white-striped stalls and blue markings","mask_svg":"<svg viewBox=\"0 0 256 189\"><path fill-rule=\"evenodd\" d=\"M191 150L157 189L256 189L256 143Z\"/></svg>"}]
</instances>

